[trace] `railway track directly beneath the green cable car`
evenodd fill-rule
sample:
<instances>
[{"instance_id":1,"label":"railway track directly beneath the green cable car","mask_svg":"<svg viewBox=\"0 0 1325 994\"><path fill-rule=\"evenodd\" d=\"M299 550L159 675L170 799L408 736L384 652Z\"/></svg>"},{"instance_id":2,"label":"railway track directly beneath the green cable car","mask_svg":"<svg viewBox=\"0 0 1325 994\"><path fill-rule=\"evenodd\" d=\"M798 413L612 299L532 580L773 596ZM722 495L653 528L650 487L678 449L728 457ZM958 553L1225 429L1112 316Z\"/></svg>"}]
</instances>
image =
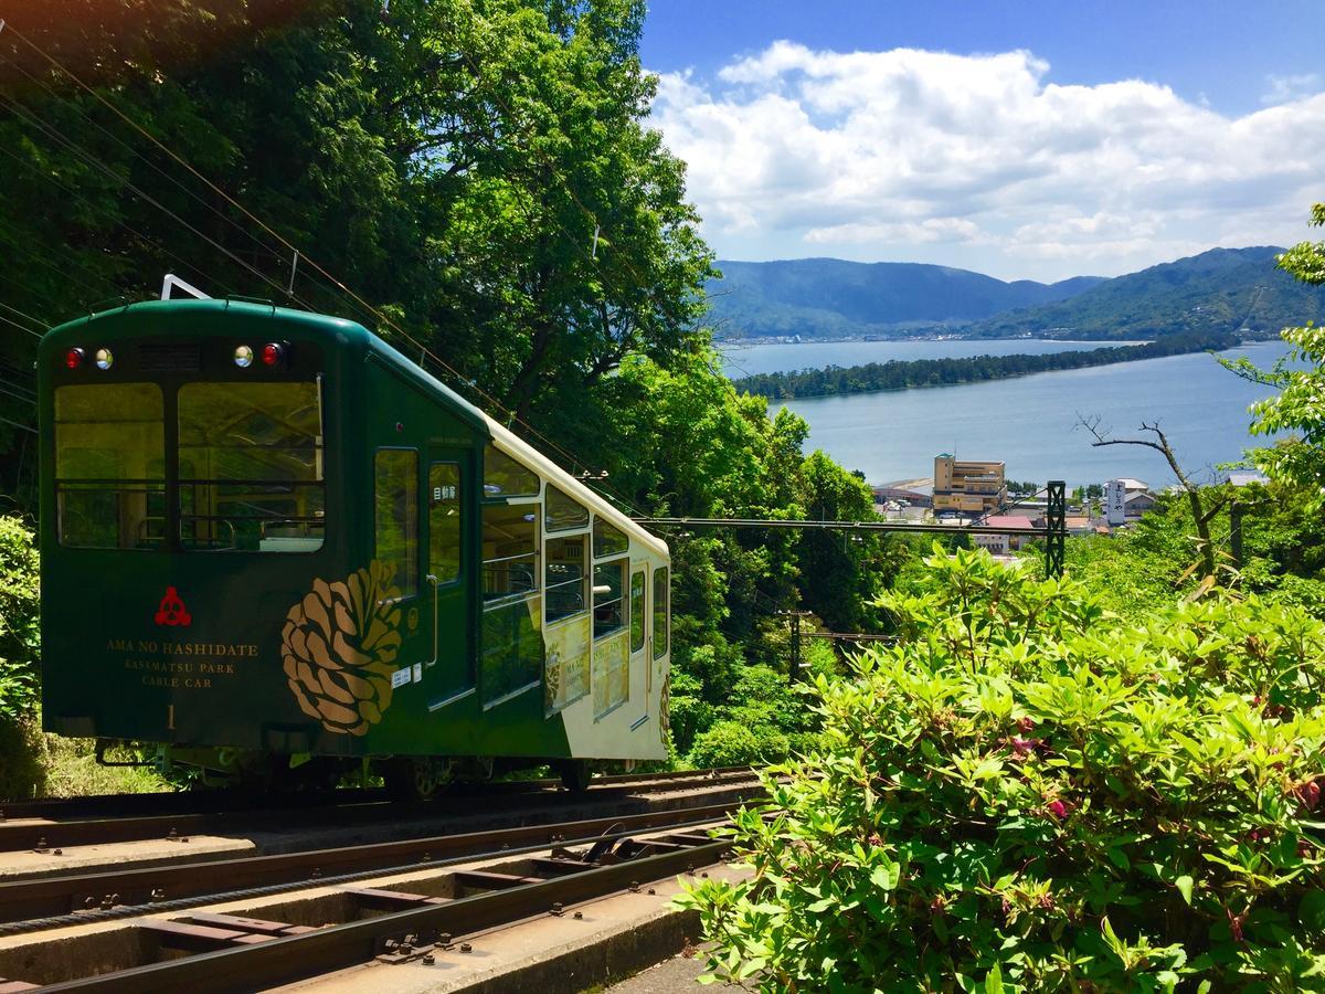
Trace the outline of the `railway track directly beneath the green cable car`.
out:
<instances>
[{"instance_id":1,"label":"railway track directly beneath the green cable car","mask_svg":"<svg viewBox=\"0 0 1325 994\"><path fill-rule=\"evenodd\" d=\"M749 767L688 770L672 774L627 774L595 778L584 798L608 794L649 794L676 790L685 783L739 783L753 777ZM348 797L342 798L341 794ZM151 798L142 802L139 798ZM167 807L168 798L175 810ZM306 801L292 795L276 798L277 806L252 806L245 798L238 807L224 807L227 797L207 794L129 795L114 806L114 798L41 801L5 804L0 819L0 854L32 850L62 854L76 846L98 846L143 839L188 839L195 835L236 835L260 831L289 831L317 827L329 820L341 827L371 827L380 823L405 826L411 820L436 822L453 810L481 803L488 812L514 812L521 807L564 804L567 794L554 781L518 781L492 785L456 785L436 801L401 803L382 791L331 791ZM95 815L101 807L107 814ZM156 807L156 811L151 808ZM138 808L138 810L135 810ZM147 808L146 811L143 808ZM89 816L91 811L91 816Z\"/></svg>"}]
</instances>

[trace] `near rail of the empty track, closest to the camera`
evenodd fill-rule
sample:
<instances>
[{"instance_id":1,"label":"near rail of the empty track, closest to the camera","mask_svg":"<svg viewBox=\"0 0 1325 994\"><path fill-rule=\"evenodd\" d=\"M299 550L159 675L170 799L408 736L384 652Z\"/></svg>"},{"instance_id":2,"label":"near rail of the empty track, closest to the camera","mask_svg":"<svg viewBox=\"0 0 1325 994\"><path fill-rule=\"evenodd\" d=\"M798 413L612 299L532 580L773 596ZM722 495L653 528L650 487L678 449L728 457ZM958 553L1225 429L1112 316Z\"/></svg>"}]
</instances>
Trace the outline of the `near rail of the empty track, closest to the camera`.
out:
<instances>
[{"instance_id":1,"label":"near rail of the empty track, closest to the camera","mask_svg":"<svg viewBox=\"0 0 1325 994\"><path fill-rule=\"evenodd\" d=\"M237 949L223 949L180 960L135 966L118 973L65 981L45 991L105 991L139 994L144 990L188 990L189 994L225 994L290 983L371 961L387 940L408 934L431 940L441 933L472 936L510 925L562 907L603 897L644 881L661 880L686 869L716 863L730 843L713 842L693 848L644 856L598 869L521 884L502 891L461 897L392 914L331 925L315 932Z\"/></svg>"}]
</instances>

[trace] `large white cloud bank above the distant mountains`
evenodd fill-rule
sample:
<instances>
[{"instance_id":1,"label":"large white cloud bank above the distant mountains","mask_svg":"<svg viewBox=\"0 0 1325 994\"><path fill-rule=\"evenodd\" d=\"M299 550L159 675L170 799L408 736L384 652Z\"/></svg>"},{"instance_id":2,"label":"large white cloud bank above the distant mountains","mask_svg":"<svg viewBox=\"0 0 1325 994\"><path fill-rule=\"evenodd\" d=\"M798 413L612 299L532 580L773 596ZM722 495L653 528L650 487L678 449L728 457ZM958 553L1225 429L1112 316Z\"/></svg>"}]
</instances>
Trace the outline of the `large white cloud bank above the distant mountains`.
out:
<instances>
[{"instance_id":1,"label":"large white cloud bank above the distant mountains","mask_svg":"<svg viewBox=\"0 0 1325 994\"><path fill-rule=\"evenodd\" d=\"M814 52L779 41L660 80L655 122L729 258L837 254L1006 278L1104 276L1305 236L1325 94L1224 117L1140 80L1049 78L1030 52ZM1277 87L1277 89L1276 89Z\"/></svg>"}]
</instances>

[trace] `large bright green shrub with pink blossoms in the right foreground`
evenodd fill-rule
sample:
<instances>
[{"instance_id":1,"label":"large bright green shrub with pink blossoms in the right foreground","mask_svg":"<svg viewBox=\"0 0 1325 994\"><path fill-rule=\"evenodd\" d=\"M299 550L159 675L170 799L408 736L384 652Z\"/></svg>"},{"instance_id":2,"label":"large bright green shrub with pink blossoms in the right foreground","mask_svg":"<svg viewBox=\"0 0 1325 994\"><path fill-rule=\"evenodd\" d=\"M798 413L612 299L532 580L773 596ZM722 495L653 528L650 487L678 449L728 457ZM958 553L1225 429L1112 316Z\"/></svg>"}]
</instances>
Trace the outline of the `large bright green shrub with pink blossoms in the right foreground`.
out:
<instances>
[{"instance_id":1,"label":"large bright green shrub with pink blossoms in the right foreground","mask_svg":"<svg viewBox=\"0 0 1325 994\"><path fill-rule=\"evenodd\" d=\"M908 640L816 681L824 747L704 881L718 975L765 990L1320 989L1325 626L1227 594L1143 626L935 555ZM762 811L779 812L765 822Z\"/></svg>"}]
</instances>

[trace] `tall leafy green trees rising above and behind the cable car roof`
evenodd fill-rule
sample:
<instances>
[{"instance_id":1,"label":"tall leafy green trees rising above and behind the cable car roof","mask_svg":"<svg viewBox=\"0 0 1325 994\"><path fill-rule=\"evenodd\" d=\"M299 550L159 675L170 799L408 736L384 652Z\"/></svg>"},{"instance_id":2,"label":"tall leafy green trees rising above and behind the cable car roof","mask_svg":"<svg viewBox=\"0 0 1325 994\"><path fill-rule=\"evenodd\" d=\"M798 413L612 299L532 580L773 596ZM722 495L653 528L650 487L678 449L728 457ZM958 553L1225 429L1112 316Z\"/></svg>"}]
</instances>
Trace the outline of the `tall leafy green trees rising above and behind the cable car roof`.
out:
<instances>
[{"instance_id":1,"label":"tall leafy green trees rising above and behind the cable car roof","mask_svg":"<svg viewBox=\"0 0 1325 994\"><path fill-rule=\"evenodd\" d=\"M408 335L543 431L627 354L669 364L702 341L710 253L645 126L641 0L140 7L142 36L21 12L0 34L20 70L0 80L0 244L26 266L0 281L7 318L38 331L174 270L417 355ZM7 337L0 359L34 347ZM3 431L12 451L21 428Z\"/></svg>"}]
</instances>

